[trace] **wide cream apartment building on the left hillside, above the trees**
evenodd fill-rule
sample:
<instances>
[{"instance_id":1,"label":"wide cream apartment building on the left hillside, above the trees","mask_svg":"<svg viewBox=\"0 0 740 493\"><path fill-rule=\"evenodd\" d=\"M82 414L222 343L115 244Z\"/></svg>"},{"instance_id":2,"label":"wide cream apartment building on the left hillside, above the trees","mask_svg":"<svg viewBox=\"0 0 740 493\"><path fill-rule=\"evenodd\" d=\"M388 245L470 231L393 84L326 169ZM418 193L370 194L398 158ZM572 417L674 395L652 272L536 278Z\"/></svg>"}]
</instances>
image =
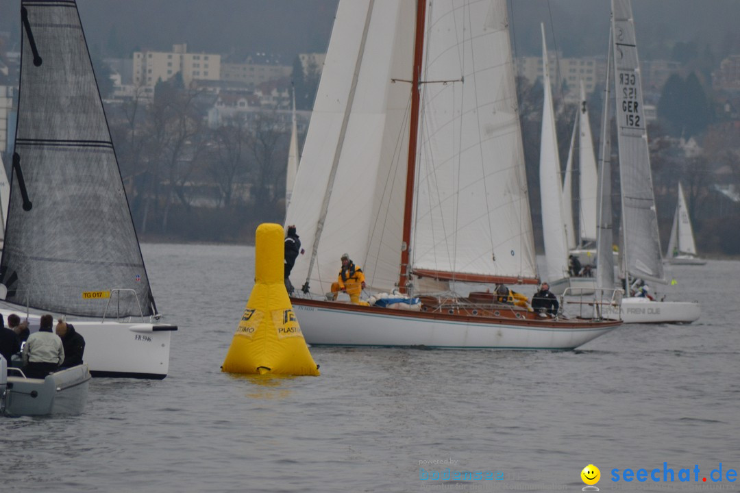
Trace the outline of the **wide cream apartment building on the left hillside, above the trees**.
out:
<instances>
[{"instance_id":1,"label":"wide cream apartment building on the left hillside, above the trees","mask_svg":"<svg viewBox=\"0 0 740 493\"><path fill-rule=\"evenodd\" d=\"M181 73L186 87L192 81L218 81L221 78L221 55L189 53L187 44L172 45L171 52L134 52L133 82L137 86L155 86Z\"/></svg>"}]
</instances>

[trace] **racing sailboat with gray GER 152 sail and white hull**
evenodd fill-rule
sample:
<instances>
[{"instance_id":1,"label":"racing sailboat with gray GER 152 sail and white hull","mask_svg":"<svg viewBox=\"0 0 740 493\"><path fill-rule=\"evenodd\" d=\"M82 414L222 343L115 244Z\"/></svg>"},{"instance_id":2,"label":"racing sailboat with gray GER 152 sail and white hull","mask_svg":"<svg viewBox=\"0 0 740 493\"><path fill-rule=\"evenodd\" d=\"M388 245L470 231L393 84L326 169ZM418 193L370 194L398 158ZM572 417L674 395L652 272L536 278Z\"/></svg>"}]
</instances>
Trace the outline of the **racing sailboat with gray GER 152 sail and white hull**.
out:
<instances>
[{"instance_id":1,"label":"racing sailboat with gray GER 152 sail and white hull","mask_svg":"<svg viewBox=\"0 0 740 493\"><path fill-rule=\"evenodd\" d=\"M634 279L665 284L632 7L630 0L612 0L611 6L625 285ZM700 313L696 302L622 299L625 323L687 323Z\"/></svg>"}]
</instances>

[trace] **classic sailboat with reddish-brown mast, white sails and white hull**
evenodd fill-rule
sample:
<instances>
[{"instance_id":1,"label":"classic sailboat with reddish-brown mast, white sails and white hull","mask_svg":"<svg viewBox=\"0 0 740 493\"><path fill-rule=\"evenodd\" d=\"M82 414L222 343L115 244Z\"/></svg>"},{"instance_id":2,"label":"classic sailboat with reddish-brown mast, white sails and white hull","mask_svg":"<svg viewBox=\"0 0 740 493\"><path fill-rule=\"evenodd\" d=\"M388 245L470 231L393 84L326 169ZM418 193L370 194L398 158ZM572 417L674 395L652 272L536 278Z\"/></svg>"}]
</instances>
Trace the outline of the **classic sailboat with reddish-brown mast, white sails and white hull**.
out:
<instances>
[{"instance_id":1,"label":"classic sailboat with reddish-brown mast, white sails and white hull","mask_svg":"<svg viewBox=\"0 0 740 493\"><path fill-rule=\"evenodd\" d=\"M306 341L565 350L612 330L448 290L538 282L527 193L505 0L341 0L286 220ZM420 310L328 301L344 252Z\"/></svg>"}]
</instances>

